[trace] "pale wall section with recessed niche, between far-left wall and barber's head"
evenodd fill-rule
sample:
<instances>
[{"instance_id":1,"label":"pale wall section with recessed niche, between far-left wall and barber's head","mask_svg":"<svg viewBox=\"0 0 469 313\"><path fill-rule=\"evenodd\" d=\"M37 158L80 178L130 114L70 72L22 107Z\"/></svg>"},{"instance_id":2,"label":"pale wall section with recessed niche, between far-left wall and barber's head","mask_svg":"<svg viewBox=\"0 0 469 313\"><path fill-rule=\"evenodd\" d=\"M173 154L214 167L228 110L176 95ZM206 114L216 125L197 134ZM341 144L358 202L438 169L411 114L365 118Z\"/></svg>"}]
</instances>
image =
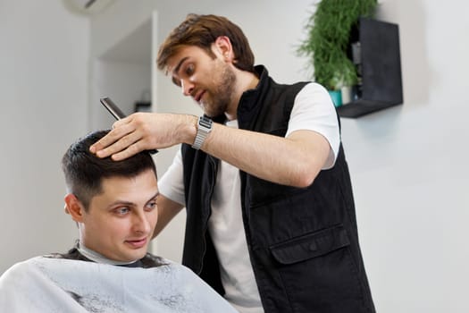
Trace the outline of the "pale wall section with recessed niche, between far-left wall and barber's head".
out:
<instances>
[{"instance_id":1,"label":"pale wall section with recessed niche, between far-left wall and barber's head","mask_svg":"<svg viewBox=\"0 0 469 313\"><path fill-rule=\"evenodd\" d=\"M121 16L121 4L112 2L104 12L92 17L90 32L89 120L92 129L110 128L115 122L99 103L111 97L125 114L134 111L135 102L150 92L152 82L151 7L140 1L139 10ZM117 13L116 13L117 11ZM149 99L151 100L151 99Z\"/></svg>"}]
</instances>

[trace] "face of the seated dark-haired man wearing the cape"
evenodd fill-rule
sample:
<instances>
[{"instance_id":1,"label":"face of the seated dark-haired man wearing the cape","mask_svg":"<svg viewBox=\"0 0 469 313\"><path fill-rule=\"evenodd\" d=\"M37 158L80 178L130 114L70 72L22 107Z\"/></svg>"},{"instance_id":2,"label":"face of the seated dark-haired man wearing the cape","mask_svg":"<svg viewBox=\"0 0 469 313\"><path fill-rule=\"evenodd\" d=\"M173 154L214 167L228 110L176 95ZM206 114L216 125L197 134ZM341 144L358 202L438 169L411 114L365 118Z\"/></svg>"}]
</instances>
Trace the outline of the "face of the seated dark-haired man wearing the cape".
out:
<instances>
[{"instance_id":1,"label":"face of the seated dark-haired man wearing the cape","mask_svg":"<svg viewBox=\"0 0 469 313\"><path fill-rule=\"evenodd\" d=\"M103 192L91 199L84 213L81 241L116 261L143 258L158 218L155 173L107 178L102 185Z\"/></svg>"}]
</instances>

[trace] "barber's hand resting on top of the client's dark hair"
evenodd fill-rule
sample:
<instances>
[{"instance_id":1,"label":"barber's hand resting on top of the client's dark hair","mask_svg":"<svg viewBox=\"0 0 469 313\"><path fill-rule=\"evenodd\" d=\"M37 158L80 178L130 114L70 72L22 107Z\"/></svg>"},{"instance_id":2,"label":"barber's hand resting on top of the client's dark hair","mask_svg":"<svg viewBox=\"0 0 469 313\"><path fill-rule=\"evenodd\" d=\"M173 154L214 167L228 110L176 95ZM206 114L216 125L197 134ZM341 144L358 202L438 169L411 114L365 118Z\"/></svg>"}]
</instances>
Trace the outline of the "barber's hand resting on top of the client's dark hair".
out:
<instances>
[{"instance_id":1,"label":"barber's hand resting on top of the client's dark hair","mask_svg":"<svg viewBox=\"0 0 469 313\"><path fill-rule=\"evenodd\" d=\"M186 114L135 113L113 124L110 131L89 150L97 157L119 161L143 150L191 144L196 136L197 117Z\"/></svg>"}]
</instances>

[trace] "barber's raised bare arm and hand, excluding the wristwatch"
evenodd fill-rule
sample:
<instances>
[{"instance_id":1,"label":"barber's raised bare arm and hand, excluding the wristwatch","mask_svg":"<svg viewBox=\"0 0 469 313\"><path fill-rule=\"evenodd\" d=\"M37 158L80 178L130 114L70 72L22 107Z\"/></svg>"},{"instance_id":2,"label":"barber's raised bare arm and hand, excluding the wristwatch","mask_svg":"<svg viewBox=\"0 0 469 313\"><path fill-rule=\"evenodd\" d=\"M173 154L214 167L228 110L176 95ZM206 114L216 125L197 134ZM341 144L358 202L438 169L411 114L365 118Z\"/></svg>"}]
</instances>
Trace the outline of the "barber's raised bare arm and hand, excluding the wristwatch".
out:
<instances>
[{"instance_id":1,"label":"barber's raised bare arm and hand, excluding the wristwatch","mask_svg":"<svg viewBox=\"0 0 469 313\"><path fill-rule=\"evenodd\" d=\"M197 116L186 114L131 114L114 123L113 131L91 150L114 160L139 151L192 144ZM296 187L310 185L321 171L329 142L315 131L294 131L287 138L233 129L219 123L202 145L206 153L267 181Z\"/></svg>"}]
</instances>

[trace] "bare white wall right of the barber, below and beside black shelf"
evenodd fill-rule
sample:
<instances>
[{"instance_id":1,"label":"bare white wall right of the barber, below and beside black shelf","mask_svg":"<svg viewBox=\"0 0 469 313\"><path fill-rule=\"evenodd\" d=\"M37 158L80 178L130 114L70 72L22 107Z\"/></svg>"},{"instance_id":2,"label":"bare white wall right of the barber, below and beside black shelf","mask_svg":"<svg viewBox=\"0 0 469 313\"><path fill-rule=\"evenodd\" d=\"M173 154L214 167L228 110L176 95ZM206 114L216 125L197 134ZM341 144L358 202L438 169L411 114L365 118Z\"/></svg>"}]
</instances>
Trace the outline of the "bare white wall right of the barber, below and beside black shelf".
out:
<instances>
[{"instance_id":1,"label":"bare white wall right of the barber, below and beside black shelf","mask_svg":"<svg viewBox=\"0 0 469 313\"><path fill-rule=\"evenodd\" d=\"M342 120L379 312L468 312L469 4L384 0L399 24L404 106Z\"/></svg>"}]
</instances>

